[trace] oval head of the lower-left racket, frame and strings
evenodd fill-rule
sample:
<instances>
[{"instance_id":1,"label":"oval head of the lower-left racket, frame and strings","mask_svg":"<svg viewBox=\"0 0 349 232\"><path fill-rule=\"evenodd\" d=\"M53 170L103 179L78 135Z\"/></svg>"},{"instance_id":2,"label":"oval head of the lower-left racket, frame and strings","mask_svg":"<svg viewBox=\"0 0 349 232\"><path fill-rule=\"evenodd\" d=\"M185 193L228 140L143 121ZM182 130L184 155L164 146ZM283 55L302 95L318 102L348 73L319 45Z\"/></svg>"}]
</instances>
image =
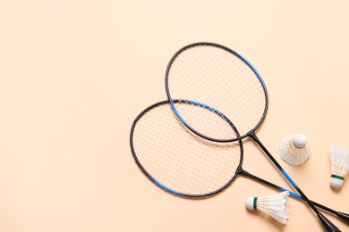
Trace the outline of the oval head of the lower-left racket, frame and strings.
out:
<instances>
[{"instance_id":1,"label":"oval head of the lower-left racket, frame and strings","mask_svg":"<svg viewBox=\"0 0 349 232\"><path fill-rule=\"evenodd\" d=\"M178 104L180 100L174 100ZM209 113L227 123L205 104L186 101L180 107ZM198 106L199 105L199 106ZM169 101L150 105L132 123L130 145L134 161L157 186L183 197L209 197L226 189L242 169L243 143L222 144L193 134L174 115Z\"/></svg>"}]
</instances>

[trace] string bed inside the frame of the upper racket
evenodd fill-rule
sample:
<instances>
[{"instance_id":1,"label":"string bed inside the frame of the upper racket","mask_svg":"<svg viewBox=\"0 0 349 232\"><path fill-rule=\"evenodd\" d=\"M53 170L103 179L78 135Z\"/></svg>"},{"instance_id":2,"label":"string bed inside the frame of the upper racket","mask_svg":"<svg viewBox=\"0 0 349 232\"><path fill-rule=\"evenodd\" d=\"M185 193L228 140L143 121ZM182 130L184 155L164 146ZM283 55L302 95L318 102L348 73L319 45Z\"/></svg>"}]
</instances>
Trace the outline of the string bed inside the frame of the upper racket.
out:
<instances>
[{"instance_id":1,"label":"string bed inside the frame of the upper racket","mask_svg":"<svg viewBox=\"0 0 349 232\"><path fill-rule=\"evenodd\" d=\"M168 86L171 87L172 97L208 104L234 120L234 125L240 132L247 132L246 129L251 129L251 123L257 123L264 112L264 104L260 104L260 99L265 101L264 92L256 91L260 86L259 80L243 61L226 50L217 49L215 46L198 47L184 50L171 63ZM245 104L246 101L248 104ZM192 115L188 115L183 118L190 120L191 117ZM199 123L199 120L190 125L199 130L200 127L195 123ZM205 128L212 129L215 125L207 124ZM205 132L203 134L208 134ZM226 138L232 137L232 134L215 133L212 137Z\"/></svg>"}]
</instances>

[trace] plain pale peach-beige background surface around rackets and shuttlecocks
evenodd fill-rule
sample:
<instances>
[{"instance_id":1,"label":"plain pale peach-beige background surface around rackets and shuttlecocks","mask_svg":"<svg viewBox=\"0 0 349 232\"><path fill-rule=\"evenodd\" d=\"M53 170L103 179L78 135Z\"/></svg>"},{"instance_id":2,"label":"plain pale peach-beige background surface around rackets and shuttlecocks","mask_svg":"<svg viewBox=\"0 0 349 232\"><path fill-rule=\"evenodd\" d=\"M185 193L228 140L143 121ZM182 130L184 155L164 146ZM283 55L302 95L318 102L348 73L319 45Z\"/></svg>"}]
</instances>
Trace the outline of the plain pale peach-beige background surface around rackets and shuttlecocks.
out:
<instances>
[{"instance_id":1,"label":"plain pale peach-beige background surface around rackets and shuttlecocks","mask_svg":"<svg viewBox=\"0 0 349 232\"><path fill-rule=\"evenodd\" d=\"M133 162L129 132L166 99L175 51L229 46L268 87L260 140L280 161L280 140L305 133L311 160L280 162L312 200L349 212L349 183L328 185L328 145L349 148L348 9L345 0L2 0L0 231L321 231L294 199L285 227L245 210L247 196L275 192L243 177L206 200L167 194ZM290 188L251 141L243 167Z\"/></svg>"}]
</instances>

